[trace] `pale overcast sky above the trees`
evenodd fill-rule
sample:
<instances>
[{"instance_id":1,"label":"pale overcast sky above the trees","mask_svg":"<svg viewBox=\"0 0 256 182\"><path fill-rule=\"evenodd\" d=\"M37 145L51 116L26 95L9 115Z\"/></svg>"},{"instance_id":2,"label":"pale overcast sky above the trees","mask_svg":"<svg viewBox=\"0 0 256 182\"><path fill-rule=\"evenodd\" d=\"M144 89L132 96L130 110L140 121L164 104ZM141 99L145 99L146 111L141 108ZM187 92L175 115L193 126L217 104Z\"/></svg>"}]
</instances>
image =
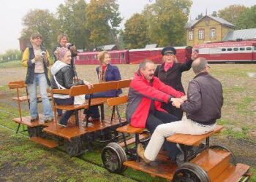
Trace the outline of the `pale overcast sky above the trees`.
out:
<instances>
[{"instance_id":1,"label":"pale overcast sky above the trees","mask_svg":"<svg viewBox=\"0 0 256 182\"><path fill-rule=\"evenodd\" d=\"M86 0L89 2L89 0ZM151 0L154 2L154 0ZM166 0L168 1L168 0ZM256 4L256 0L192 0L192 8L190 9L190 17L192 20L201 12L211 14L213 11L218 11L230 4L244 4L246 7L251 7ZM135 12L141 12L145 4L152 3L150 0L118 0L121 17L125 20L131 17ZM29 9L49 9L55 13L59 4L64 3L64 0L1 0L0 1L0 53L9 49L19 49L18 38L22 30L22 18Z\"/></svg>"}]
</instances>

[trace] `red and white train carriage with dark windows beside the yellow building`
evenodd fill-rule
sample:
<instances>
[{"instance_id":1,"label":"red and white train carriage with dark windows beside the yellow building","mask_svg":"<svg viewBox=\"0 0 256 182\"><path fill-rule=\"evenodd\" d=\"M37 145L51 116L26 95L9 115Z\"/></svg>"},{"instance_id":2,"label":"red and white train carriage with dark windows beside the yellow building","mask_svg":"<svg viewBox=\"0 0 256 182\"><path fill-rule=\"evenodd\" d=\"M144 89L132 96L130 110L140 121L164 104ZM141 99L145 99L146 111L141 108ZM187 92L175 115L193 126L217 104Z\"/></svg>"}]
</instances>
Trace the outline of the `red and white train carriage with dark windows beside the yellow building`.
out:
<instances>
[{"instance_id":1,"label":"red and white train carriage with dark windows beside the yellow building","mask_svg":"<svg viewBox=\"0 0 256 182\"><path fill-rule=\"evenodd\" d=\"M256 40L196 44L193 48L212 63L256 63Z\"/></svg>"}]
</instances>

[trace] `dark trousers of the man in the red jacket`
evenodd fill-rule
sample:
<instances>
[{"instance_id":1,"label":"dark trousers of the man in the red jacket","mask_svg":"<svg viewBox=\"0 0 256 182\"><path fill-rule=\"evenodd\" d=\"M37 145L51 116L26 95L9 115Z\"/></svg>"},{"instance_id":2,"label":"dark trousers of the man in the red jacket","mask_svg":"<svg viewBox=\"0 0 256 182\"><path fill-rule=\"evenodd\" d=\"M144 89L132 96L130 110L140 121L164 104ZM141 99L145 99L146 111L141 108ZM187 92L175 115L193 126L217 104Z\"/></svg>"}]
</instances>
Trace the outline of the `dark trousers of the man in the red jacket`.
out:
<instances>
[{"instance_id":1,"label":"dark trousers of the man in the red jacket","mask_svg":"<svg viewBox=\"0 0 256 182\"><path fill-rule=\"evenodd\" d=\"M168 114L162 111L150 111L148 114L148 119L146 121L146 128L153 134L154 130L157 128L159 124L176 122L178 118L173 116L172 114ZM170 143L165 141L163 144L163 148L167 151L168 156L173 161L176 161L176 156L181 151L176 146L176 143Z\"/></svg>"}]
</instances>

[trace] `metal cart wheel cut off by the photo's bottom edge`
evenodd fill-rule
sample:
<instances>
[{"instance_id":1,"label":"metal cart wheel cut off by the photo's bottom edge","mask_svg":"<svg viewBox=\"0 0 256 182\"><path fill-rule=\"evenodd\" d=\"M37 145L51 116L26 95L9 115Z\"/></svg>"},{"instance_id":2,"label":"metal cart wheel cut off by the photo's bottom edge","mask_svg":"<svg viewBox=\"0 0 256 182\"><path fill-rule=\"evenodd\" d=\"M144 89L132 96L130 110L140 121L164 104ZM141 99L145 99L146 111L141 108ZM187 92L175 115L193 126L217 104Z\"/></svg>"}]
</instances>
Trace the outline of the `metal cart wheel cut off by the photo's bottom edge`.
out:
<instances>
[{"instance_id":1,"label":"metal cart wheel cut off by the photo's bottom edge","mask_svg":"<svg viewBox=\"0 0 256 182\"><path fill-rule=\"evenodd\" d=\"M173 182L209 182L208 175L200 166L185 162L177 168Z\"/></svg>"}]
</instances>

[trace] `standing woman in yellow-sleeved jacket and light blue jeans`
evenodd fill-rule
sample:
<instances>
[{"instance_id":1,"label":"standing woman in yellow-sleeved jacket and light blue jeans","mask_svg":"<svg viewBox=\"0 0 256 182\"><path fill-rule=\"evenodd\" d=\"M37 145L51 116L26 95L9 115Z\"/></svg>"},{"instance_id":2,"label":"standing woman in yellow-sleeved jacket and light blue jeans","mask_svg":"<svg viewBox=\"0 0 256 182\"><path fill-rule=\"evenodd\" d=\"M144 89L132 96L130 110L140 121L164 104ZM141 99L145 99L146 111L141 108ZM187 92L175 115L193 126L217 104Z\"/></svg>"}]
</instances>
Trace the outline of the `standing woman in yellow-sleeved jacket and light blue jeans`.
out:
<instances>
[{"instance_id":1,"label":"standing woman in yellow-sleeved jacket and light blue jeans","mask_svg":"<svg viewBox=\"0 0 256 182\"><path fill-rule=\"evenodd\" d=\"M31 46L23 52L22 66L27 67L26 81L29 92L29 108L31 122L39 120L37 111L37 85L42 98L44 122L53 121L53 110L48 99L47 87L50 86L48 78L48 66L50 55L45 47L42 47L42 36L32 33Z\"/></svg>"}]
</instances>

